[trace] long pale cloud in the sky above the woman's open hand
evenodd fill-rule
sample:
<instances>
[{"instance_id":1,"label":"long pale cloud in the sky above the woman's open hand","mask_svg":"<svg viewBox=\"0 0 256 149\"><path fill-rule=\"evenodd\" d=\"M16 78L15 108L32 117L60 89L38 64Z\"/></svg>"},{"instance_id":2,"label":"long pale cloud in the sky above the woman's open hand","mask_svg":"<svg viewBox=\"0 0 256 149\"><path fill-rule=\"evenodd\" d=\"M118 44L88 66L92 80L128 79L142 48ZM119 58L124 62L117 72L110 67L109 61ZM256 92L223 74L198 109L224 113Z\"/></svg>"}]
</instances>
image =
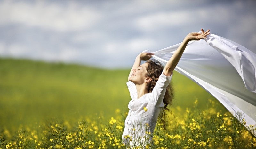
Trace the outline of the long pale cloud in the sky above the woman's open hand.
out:
<instances>
[{"instance_id":1,"label":"long pale cloud in the sky above the woman's open hand","mask_svg":"<svg viewBox=\"0 0 256 149\"><path fill-rule=\"evenodd\" d=\"M217 24L223 22L225 24L234 18L233 16L230 17L229 10L225 6L170 9L140 16L135 20L135 24L145 32L206 23ZM198 26L198 28L200 27Z\"/></svg>"}]
</instances>

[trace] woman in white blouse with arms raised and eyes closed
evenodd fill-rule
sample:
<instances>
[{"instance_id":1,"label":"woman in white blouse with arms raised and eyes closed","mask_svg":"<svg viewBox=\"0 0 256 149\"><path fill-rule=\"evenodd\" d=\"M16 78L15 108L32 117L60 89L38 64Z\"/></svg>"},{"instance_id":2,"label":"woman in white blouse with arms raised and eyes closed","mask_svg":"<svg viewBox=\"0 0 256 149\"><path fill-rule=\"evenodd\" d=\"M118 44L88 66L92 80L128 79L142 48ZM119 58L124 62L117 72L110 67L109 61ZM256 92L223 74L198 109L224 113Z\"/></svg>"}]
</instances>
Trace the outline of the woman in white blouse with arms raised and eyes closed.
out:
<instances>
[{"instance_id":1,"label":"woman in white blouse with arms raised and eyes closed","mask_svg":"<svg viewBox=\"0 0 256 149\"><path fill-rule=\"evenodd\" d=\"M129 102L129 113L125 120L123 142L129 147L144 146L152 140L156 122L160 112L167 109L171 99L166 88L171 82L172 71L178 64L187 44L192 40L200 40L209 35L209 31L189 33L179 48L163 68L160 63L149 60L152 53L140 53L132 66L127 86L132 100ZM141 60L149 60L140 65ZM167 99L166 99L167 97Z\"/></svg>"}]
</instances>

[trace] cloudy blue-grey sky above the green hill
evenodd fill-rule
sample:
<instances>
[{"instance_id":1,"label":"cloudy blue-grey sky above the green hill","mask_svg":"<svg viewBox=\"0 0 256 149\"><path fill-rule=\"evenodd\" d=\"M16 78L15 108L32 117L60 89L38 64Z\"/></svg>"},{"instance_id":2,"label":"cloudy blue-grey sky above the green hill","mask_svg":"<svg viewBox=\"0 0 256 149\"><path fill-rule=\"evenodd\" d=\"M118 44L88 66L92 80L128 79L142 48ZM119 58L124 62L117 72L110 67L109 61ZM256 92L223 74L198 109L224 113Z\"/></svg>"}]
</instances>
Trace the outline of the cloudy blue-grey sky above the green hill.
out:
<instances>
[{"instance_id":1,"label":"cloudy blue-grey sky above the green hill","mask_svg":"<svg viewBox=\"0 0 256 149\"><path fill-rule=\"evenodd\" d=\"M129 68L201 28L256 47L256 1L0 1L0 57Z\"/></svg>"}]
</instances>

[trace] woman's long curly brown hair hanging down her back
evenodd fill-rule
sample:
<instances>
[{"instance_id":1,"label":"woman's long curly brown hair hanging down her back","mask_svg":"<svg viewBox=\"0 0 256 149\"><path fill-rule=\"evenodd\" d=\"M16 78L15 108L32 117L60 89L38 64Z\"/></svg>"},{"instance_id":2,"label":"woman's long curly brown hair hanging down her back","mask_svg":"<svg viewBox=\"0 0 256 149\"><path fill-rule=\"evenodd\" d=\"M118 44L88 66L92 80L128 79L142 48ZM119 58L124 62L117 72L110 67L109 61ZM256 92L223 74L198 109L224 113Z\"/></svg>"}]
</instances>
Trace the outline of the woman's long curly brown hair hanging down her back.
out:
<instances>
[{"instance_id":1,"label":"woman's long curly brown hair hanging down her back","mask_svg":"<svg viewBox=\"0 0 256 149\"><path fill-rule=\"evenodd\" d=\"M148 61L146 61L146 63L148 63L146 77L152 78L152 81L147 86L148 91L151 93L153 91L154 87L156 86L156 82L158 81L160 75L162 74L164 67L157 60L148 60ZM164 129L168 125L168 121L166 120L166 116L168 116L168 115L167 115L166 111L172 113L172 111L170 109L168 109L167 106L172 104L173 95L174 95L174 90L172 88L172 84L170 83L167 86L166 92L164 94L164 99L163 99L164 110L158 117L159 121L162 123L162 126Z\"/></svg>"}]
</instances>

